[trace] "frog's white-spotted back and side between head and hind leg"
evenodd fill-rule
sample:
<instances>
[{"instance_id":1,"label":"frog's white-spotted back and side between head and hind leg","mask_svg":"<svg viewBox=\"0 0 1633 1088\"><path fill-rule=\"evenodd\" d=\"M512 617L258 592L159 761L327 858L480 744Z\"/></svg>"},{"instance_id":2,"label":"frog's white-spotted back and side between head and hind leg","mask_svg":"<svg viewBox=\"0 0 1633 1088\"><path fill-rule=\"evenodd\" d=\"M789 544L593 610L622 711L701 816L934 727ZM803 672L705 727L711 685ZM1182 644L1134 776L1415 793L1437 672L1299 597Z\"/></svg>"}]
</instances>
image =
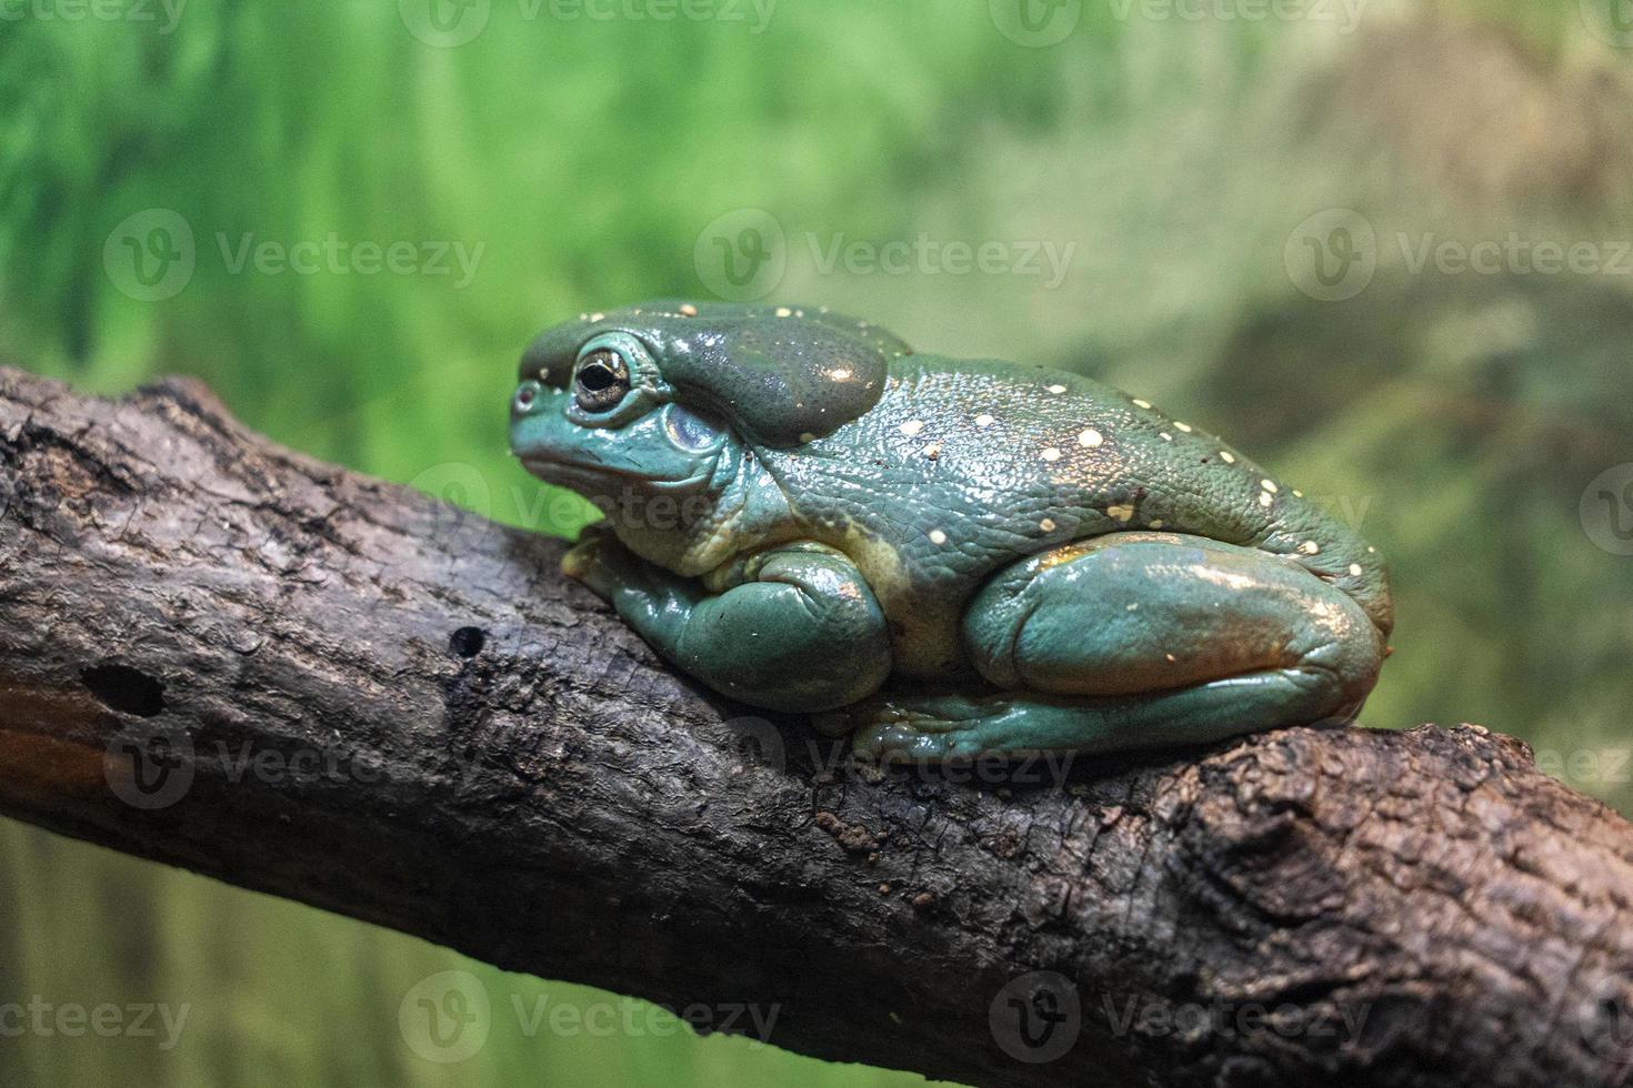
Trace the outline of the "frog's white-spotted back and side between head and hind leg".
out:
<instances>
[{"instance_id":1,"label":"frog's white-spotted back and side between head and hind leg","mask_svg":"<svg viewBox=\"0 0 1633 1088\"><path fill-rule=\"evenodd\" d=\"M1287 556L1391 625L1380 556L1238 450L1092 378L905 356L861 419L781 462L813 535L852 555L919 644L955 669L963 604L1017 558L1109 532L1174 532ZM929 646L934 644L931 649Z\"/></svg>"}]
</instances>

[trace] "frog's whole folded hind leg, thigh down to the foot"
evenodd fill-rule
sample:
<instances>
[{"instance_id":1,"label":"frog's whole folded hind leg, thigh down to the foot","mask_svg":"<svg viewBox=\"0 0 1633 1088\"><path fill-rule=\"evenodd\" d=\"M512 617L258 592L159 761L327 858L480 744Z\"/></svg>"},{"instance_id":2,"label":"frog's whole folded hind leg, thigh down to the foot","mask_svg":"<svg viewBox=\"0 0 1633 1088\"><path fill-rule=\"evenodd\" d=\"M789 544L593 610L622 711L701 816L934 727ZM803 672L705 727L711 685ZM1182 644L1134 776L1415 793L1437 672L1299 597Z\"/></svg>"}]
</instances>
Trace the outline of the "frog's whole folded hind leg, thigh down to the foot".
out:
<instances>
[{"instance_id":1,"label":"frog's whole folded hind leg, thigh down to the foot","mask_svg":"<svg viewBox=\"0 0 1633 1088\"><path fill-rule=\"evenodd\" d=\"M963 620L998 688L880 697L841 714L882 759L1217 741L1352 714L1383 636L1292 559L1176 533L1112 533L1001 571Z\"/></svg>"}]
</instances>

